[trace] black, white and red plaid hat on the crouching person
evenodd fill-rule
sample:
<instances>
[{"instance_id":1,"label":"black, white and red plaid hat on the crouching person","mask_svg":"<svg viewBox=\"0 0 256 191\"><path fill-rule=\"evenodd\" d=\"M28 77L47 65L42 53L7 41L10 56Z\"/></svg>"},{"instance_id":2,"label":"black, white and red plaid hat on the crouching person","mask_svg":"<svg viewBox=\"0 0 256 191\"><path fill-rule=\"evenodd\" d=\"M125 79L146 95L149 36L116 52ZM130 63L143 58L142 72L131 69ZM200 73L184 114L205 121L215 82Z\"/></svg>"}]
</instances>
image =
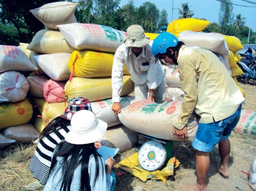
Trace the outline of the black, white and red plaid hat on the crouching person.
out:
<instances>
[{"instance_id":1,"label":"black, white and red plaid hat on the crouching person","mask_svg":"<svg viewBox=\"0 0 256 191\"><path fill-rule=\"evenodd\" d=\"M72 98L61 118L71 120L72 116L80 110L92 111L91 102L83 97Z\"/></svg>"}]
</instances>

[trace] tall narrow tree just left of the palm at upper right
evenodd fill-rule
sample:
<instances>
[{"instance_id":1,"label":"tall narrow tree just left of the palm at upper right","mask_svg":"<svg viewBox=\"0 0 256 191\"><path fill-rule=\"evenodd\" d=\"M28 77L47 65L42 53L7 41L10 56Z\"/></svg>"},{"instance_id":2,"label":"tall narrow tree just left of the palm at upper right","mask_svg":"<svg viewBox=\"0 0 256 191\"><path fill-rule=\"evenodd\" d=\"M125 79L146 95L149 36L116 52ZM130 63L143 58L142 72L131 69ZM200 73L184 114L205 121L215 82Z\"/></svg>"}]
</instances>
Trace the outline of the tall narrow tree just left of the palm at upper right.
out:
<instances>
[{"instance_id":1,"label":"tall narrow tree just left of the palm at upper right","mask_svg":"<svg viewBox=\"0 0 256 191\"><path fill-rule=\"evenodd\" d=\"M232 35L234 31L232 30L233 21L233 6L230 0L223 0L220 2L220 13L219 22L221 26L221 33Z\"/></svg>"}]
</instances>

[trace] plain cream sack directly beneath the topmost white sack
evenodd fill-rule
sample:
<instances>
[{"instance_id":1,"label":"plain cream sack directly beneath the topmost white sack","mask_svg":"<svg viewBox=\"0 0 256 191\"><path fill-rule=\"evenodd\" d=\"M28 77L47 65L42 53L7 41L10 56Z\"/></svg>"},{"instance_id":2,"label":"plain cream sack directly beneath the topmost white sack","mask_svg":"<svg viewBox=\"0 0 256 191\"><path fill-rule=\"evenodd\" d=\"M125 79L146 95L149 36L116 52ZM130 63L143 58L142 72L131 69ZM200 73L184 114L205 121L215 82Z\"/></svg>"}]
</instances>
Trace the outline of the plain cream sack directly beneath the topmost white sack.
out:
<instances>
[{"instance_id":1,"label":"plain cream sack directly beneath the topmost white sack","mask_svg":"<svg viewBox=\"0 0 256 191\"><path fill-rule=\"evenodd\" d=\"M51 29L38 31L29 43L28 49L41 54L56 52L72 53L75 50L67 43L60 31Z\"/></svg>"}]
</instances>

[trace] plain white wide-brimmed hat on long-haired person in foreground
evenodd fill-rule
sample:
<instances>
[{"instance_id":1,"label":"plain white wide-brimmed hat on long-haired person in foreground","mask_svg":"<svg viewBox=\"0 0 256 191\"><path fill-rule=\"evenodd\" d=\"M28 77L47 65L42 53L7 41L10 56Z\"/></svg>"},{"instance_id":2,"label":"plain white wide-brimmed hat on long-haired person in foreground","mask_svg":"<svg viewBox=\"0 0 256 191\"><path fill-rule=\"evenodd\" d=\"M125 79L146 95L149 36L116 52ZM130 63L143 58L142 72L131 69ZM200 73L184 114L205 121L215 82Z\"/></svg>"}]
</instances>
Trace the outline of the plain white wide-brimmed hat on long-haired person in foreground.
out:
<instances>
[{"instance_id":1,"label":"plain white wide-brimmed hat on long-haired person in foreground","mask_svg":"<svg viewBox=\"0 0 256 191\"><path fill-rule=\"evenodd\" d=\"M104 136L108 124L97 119L91 111L77 111L70 121L71 130L65 141L71 144L89 144L99 141Z\"/></svg>"}]
</instances>

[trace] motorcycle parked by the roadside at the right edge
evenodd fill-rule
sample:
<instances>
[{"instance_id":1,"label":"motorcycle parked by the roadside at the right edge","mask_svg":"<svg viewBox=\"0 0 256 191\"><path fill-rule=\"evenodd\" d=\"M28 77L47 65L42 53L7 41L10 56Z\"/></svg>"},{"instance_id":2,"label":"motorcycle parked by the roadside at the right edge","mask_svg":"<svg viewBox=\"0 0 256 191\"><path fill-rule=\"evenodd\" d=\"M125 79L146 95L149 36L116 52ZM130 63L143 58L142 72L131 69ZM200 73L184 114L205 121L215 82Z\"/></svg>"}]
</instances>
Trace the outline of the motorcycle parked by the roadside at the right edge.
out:
<instances>
[{"instance_id":1,"label":"motorcycle parked by the roadside at the right edge","mask_svg":"<svg viewBox=\"0 0 256 191\"><path fill-rule=\"evenodd\" d=\"M243 70L243 74L237 76L237 79L245 79L246 83L249 80L256 80L256 57L252 54L252 49L249 47L244 53L239 53L242 57L237 65Z\"/></svg>"}]
</instances>

